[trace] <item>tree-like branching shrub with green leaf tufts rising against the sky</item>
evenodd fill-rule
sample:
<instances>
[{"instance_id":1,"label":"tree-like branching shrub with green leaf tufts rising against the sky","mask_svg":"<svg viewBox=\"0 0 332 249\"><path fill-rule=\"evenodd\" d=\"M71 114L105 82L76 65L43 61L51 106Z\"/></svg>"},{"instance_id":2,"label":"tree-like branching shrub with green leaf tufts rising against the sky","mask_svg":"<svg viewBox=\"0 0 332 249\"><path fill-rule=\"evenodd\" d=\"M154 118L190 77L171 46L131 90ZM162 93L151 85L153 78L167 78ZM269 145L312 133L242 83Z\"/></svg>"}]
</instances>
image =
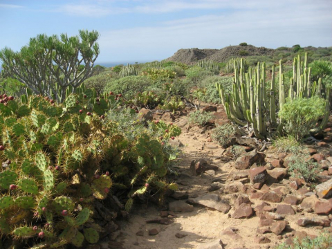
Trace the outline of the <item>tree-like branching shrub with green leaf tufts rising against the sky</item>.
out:
<instances>
[{"instance_id":1,"label":"tree-like branching shrub with green leaf tufts rising against the sky","mask_svg":"<svg viewBox=\"0 0 332 249\"><path fill-rule=\"evenodd\" d=\"M36 94L63 102L68 88L75 92L91 75L100 53L97 31L80 30L79 33L75 37L62 34L60 38L37 35L19 52L3 48L0 51L3 71Z\"/></svg>"}]
</instances>

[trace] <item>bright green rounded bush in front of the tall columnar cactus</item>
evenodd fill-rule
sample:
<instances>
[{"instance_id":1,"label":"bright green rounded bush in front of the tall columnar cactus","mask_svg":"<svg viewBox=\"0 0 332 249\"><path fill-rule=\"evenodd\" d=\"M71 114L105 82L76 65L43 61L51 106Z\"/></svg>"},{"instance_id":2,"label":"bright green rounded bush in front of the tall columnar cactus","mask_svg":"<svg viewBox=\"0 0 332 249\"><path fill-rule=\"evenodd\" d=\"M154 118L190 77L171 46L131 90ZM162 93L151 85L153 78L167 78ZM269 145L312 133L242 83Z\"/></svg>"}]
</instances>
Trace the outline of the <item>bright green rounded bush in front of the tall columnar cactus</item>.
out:
<instances>
[{"instance_id":1,"label":"bright green rounded bush in front of the tall columnar cactus","mask_svg":"<svg viewBox=\"0 0 332 249\"><path fill-rule=\"evenodd\" d=\"M298 98L287 102L279 111L279 117L286 121L286 132L297 141L308 135L319 118L324 116L325 101L322 98Z\"/></svg>"}]
</instances>

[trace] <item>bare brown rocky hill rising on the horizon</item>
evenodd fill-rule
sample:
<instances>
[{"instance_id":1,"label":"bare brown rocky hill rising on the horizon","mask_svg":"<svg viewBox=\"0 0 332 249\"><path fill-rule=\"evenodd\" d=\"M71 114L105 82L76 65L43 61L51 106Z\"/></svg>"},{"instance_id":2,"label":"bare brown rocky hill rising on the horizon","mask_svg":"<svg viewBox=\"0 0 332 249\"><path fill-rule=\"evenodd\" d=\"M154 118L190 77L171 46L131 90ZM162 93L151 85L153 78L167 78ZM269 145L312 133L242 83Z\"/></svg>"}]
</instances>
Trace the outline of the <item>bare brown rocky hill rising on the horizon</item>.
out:
<instances>
[{"instance_id":1,"label":"bare brown rocky hill rising on the horizon","mask_svg":"<svg viewBox=\"0 0 332 249\"><path fill-rule=\"evenodd\" d=\"M178 50L172 57L167 58L166 61L193 64L200 59L212 59L215 62L227 62L231 57L273 55L274 53L275 49L257 48L252 45L228 46L221 49L186 48Z\"/></svg>"}]
</instances>

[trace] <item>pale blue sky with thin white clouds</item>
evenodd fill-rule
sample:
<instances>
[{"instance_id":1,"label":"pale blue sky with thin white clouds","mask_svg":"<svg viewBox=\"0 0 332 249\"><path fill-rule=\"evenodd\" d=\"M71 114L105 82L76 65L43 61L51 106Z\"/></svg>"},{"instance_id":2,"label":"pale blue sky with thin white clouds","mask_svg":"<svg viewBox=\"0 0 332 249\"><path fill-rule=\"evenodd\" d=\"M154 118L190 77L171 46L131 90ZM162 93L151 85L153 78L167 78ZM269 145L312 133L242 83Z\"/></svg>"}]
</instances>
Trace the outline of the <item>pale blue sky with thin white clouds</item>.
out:
<instances>
[{"instance_id":1,"label":"pale blue sky with thin white clouds","mask_svg":"<svg viewBox=\"0 0 332 249\"><path fill-rule=\"evenodd\" d=\"M180 48L332 46L331 0L0 0L0 49L100 32L97 62L149 62Z\"/></svg>"}]
</instances>

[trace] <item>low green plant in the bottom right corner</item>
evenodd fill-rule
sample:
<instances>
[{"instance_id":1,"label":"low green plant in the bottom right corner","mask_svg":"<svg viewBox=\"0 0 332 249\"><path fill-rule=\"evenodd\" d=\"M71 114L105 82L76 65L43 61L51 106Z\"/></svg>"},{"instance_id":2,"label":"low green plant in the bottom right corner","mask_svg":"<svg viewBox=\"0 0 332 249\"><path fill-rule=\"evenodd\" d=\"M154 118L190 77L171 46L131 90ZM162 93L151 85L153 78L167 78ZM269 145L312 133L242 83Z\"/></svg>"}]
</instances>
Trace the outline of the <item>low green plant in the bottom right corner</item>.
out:
<instances>
[{"instance_id":1,"label":"low green plant in the bottom right corner","mask_svg":"<svg viewBox=\"0 0 332 249\"><path fill-rule=\"evenodd\" d=\"M293 245L288 246L286 243L282 243L275 249L327 249L332 248L332 236L327 232L324 232L314 239L306 237L302 240L294 239Z\"/></svg>"}]
</instances>

